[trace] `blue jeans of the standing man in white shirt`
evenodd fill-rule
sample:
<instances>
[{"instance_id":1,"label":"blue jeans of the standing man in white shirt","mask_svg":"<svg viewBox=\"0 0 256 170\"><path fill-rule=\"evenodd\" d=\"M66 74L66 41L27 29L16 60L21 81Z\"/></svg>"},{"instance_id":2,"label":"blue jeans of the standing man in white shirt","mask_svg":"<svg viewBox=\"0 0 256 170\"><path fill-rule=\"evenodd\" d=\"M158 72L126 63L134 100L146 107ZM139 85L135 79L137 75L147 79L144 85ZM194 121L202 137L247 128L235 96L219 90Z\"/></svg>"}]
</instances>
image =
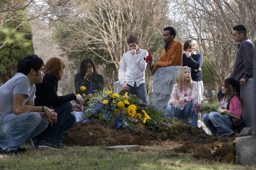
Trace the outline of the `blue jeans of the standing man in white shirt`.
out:
<instances>
[{"instance_id":1,"label":"blue jeans of the standing man in white shirt","mask_svg":"<svg viewBox=\"0 0 256 170\"><path fill-rule=\"evenodd\" d=\"M147 88L146 88L145 83L143 83L137 87L136 82L134 82L134 86L131 86L131 85L128 85L128 86L130 87L130 90L127 91L128 95L130 95L130 94L140 95L139 99L143 103L148 103L148 93L147 93Z\"/></svg>"}]
</instances>

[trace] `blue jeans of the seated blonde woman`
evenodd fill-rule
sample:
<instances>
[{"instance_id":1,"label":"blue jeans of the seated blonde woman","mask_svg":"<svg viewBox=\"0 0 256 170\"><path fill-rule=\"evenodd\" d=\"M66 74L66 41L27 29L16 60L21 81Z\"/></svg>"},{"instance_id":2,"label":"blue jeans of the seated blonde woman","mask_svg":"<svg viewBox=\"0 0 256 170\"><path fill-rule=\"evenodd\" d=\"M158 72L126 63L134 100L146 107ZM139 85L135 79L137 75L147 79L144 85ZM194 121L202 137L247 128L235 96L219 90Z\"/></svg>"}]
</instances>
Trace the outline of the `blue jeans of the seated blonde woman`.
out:
<instances>
[{"instance_id":1,"label":"blue jeans of the seated blonde woman","mask_svg":"<svg viewBox=\"0 0 256 170\"><path fill-rule=\"evenodd\" d=\"M188 107L184 108L183 110L180 109L178 106L173 106L171 104L168 104L166 107L166 112L169 114L171 118L177 117L177 118L190 118L191 117L191 126L197 127L198 126L198 115L195 111L192 111L193 104L197 100L192 100Z\"/></svg>"}]
</instances>

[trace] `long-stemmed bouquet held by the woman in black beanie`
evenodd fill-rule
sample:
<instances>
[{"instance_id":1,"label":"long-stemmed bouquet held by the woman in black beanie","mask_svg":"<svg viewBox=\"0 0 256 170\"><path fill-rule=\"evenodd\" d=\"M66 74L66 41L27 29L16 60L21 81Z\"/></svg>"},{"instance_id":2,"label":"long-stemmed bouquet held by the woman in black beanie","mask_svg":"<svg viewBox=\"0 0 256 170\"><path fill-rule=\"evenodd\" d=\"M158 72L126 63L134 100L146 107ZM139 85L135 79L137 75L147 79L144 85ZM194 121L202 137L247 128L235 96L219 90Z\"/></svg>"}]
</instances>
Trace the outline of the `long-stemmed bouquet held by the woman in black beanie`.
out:
<instances>
[{"instance_id":1,"label":"long-stemmed bouquet held by the woman in black beanie","mask_svg":"<svg viewBox=\"0 0 256 170\"><path fill-rule=\"evenodd\" d=\"M203 103L203 104L200 104L199 102L195 102L194 105L193 105L193 108L192 108L193 111L196 112L196 114L198 113L207 113L212 111L212 110L215 110L217 111L218 110L218 107L216 106L210 106L209 104L207 103ZM231 116L231 117L234 117L236 119L240 119L239 116L236 116L234 114L230 114L230 113L227 113L227 112L223 112L223 114L226 114L228 116Z\"/></svg>"}]
</instances>

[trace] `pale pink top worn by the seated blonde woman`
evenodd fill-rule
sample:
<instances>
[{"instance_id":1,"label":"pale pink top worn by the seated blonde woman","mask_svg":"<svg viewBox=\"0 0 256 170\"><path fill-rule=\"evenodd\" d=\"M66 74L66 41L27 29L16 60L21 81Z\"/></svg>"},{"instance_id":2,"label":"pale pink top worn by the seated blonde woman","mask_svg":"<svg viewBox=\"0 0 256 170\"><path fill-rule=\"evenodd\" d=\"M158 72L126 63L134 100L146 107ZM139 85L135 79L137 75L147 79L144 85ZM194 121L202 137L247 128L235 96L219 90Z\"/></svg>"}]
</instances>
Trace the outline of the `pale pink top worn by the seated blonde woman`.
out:
<instances>
[{"instance_id":1,"label":"pale pink top worn by the seated blonde woman","mask_svg":"<svg viewBox=\"0 0 256 170\"><path fill-rule=\"evenodd\" d=\"M185 101L183 103L180 103L178 105L178 107L180 107L180 109L183 110L184 108L188 107L190 101L197 99L197 83L193 81L192 89L189 86L187 86L187 91L184 91L182 89L181 92L179 90L179 85L177 83L175 83L173 85L171 98L170 98L168 104L170 104L171 101L179 100L181 97L184 97Z\"/></svg>"}]
</instances>

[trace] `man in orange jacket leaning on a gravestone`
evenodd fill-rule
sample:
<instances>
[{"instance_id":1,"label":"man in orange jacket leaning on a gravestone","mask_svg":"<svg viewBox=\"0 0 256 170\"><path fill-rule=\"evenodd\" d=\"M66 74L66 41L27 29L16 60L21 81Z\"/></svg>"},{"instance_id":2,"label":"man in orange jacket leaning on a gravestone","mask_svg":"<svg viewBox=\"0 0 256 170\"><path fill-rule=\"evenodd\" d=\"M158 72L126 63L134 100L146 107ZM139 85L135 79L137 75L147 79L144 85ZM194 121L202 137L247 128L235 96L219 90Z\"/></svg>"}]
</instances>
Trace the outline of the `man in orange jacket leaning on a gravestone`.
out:
<instances>
[{"instance_id":1,"label":"man in orange jacket leaning on a gravestone","mask_svg":"<svg viewBox=\"0 0 256 170\"><path fill-rule=\"evenodd\" d=\"M163 40L165 45L162 50L158 63L150 66L151 74L159 67L182 66L182 42L176 41L176 30L171 27L165 27L163 31Z\"/></svg>"}]
</instances>

